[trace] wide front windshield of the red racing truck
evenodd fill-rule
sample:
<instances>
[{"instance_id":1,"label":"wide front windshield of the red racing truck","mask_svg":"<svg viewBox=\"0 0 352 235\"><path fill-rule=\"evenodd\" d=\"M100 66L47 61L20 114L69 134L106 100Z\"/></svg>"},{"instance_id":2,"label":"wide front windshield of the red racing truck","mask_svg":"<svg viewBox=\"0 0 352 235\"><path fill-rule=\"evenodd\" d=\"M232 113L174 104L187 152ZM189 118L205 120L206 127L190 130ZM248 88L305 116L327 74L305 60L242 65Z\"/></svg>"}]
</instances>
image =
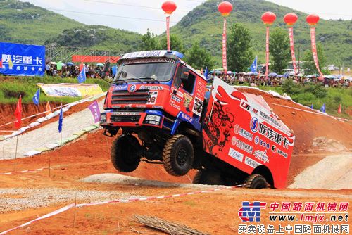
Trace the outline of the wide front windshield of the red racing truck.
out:
<instances>
[{"instance_id":1,"label":"wide front windshield of the red racing truck","mask_svg":"<svg viewBox=\"0 0 352 235\"><path fill-rule=\"evenodd\" d=\"M124 80L154 80L165 82L171 79L176 64L169 62L127 63L118 65L118 73L113 82Z\"/></svg>"}]
</instances>

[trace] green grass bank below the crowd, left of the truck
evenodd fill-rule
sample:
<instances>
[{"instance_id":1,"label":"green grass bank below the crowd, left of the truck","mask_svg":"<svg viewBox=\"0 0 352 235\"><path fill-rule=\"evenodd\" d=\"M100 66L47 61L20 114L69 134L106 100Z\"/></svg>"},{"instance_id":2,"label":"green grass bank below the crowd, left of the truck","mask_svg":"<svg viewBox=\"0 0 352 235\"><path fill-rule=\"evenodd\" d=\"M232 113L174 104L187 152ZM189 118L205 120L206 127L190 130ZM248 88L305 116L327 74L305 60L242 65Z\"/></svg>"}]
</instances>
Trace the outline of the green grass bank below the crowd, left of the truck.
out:
<instances>
[{"instance_id":1,"label":"green grass bank below the crowd, left of the truck","mask_svg":"<svg viewBox=\"0 0 352 235\"><path fill-rule=\"evenodd\" d=\"M32 98L39 88L37 83L77 83L75 78L61 77L0 77L0 103L16 103L22 96L23 103L32 103ZM110 84L101 79L87 79L86 84L99 84L103 91L107 91ZM40 102L70 103L82 97L51 97L40 93Z\"/></svg>"}]
</instances>

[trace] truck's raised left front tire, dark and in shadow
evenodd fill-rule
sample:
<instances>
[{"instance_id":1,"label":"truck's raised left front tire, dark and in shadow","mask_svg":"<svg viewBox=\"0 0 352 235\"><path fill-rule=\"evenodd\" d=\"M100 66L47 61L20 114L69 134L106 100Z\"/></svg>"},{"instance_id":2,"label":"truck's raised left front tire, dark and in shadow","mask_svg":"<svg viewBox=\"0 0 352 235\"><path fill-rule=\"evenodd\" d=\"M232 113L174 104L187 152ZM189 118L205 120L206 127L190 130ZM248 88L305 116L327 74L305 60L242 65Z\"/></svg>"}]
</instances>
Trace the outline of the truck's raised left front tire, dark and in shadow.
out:
<instances>
[{"instance_id":1,"label":"truck's raised left front tire, dark and in shadow","mask_svg":"<svg viewBox=\"0 0 352 235\"><path fill-rule=\"evenodd\" d=\"M141 156L139 142L130 134L122 134L111 147L111 162L119 172L132 172L137 169Z\"/></svg>"}]
</instances>

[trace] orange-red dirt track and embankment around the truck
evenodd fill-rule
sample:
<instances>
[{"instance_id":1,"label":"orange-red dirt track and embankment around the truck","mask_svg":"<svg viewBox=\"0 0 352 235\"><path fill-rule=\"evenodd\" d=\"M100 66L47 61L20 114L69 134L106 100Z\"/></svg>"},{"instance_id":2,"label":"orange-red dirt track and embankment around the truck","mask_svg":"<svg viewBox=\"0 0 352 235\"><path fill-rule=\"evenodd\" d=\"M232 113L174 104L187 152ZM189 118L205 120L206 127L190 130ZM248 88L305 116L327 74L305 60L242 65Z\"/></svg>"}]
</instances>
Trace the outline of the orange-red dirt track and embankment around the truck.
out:
<instances>
[{"instance_id":1,"label":"orange-red dirt track and embankment around the truck","mask_svg":"<svg viewBox=\"0 0 352 235\"><path fill-rule=\"evenodd\" d=\"M272 106L272 103L295 106L289 101L279 100L266 94L264 94L264 97L270 106ZM350 123L298 111L292 113L293 110L280 108L279 106L272 106L272 108L284 123L294 129L296 134L295 154L291 161L289 183L294 182L297 175L305 174L304 170L308 167L313 167L313 169L315 169L314 167L321 167L320 162L332 158L326 158L327 156L338 155L337 153L327 153L320 147L313 146L313 139L324 136L326 139L333 139L347 149L351 149L350 134L352 133L352 127ZM86 134L82 139L56 151L32 158L1 160L0 174L1 172L48 167L49 160L53 170L51 170L51 177L49 177L49 170L47 169L38 172L0 175L0 192L4 192L1 193L1 198L5 200L2 201L3 204L0 205L0 208L8 201L11 201L11 205L13 205L13 211L11 211L10 206L6 210L11 212L0 214L0 232L56 210L63 205L73 203L75 201L73 195L76 194L78 203L86 203L89 201L105 201L111 198L161 196L199 190L180 186L157 187L82 182L82 179L94 174L116 173L109 159L112 141L113 139L103 136L101 130L99 130L92 134ZM344 158L351 159L351 157L351 153L345 153L344 155ZM324 173L325 167L331 165L331 162L327 162L327 165L317 169ZM351 167L351 162L345 162L340 167ZM334 169L334 171L339 172L339 169ZM348 176L348 174L351 174L351 170L347 170L344 175ZM184 177L172 177L163 170L162 165L141 163L136 171L128 175L163 182L190 183L194 172L190 172ZM324 177L324 174L322 175ZM341 179L344 179L344 177L341 177ZM346 181L346 184L348 184L348 181ZM341 186L341 188L344 187L344 185ZM29 189L30 191L28 191ZM38 192L42 196L33 196ZM92 197L87 196L89 192L91 192ZM238 224L241 224L237 214L242 201L264 201L266 203L275 201L349 202L351 201L351 192L351 189L337 191L317 189L265 189L261 191L226 189L180 198L165 198L158 201L96 205L77 209L75 227L73 227L74 210L71 209L60 215L30 224L25 229L19 229L12 234L27 234L28 232L32 234L137 234L132 231L133 228L138 231L148 231L149 234L158 234L156 231L146 229L136 222L132 222L131 217L135 214L155 215L210 234L236 234ZM58 200L60 194L63 193L65 196L61 196L65 199ZM93 197L94 195L96 197ZM20 208L20 210L15 211L18 205L29 198L35 205L34 208ZM39 202L42 204L40 205ZM269 210L266 209L262 213L264 224L275 226L282 224L282 222L269 222L268 212ZM349 212L351 212L351 207L349 207ZM282 226L287 224L289 223L284 223ZM341 224L341 222L333 224Z\"/></svg>"}]
</instances>

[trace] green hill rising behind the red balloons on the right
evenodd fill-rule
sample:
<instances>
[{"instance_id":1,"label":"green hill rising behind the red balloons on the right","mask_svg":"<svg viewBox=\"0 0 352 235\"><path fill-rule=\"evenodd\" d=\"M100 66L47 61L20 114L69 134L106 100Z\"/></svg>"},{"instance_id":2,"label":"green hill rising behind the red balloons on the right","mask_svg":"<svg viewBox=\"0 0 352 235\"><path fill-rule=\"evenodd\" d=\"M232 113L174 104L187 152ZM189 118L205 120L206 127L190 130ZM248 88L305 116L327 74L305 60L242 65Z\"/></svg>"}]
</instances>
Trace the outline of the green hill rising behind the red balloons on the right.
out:
<instances>
[{"instance_id":1,"label":"green hill rising behind the red balloons on the right","mask_svg":"<svg viewBox=\"0 0 352 235\"><path fill-rule=\"evenodd\" d=\"M277 15L273 27L286 28L284 15L294 12L298 15L298 22L294 26L294 40L296 56L298 47L303 51L310 48L310 33L306 23L308 14L291 8L279 6L263 0L228 0L232 2L234 11L227 18L227 25L243 23L249 28L253 37L253 49L258 54L260 63L265 61L265 26L260 17L265 11L272 11ZM218 0L208 0L190 11L177 25L171 27L170 32L182 38L185 46L199 40L201 46L211 51L220 65L222 16L218 12ZM320 20L316 27L317 42L325 49L327 63L352 66L352 20ZM288 35L287 35L288 37Z\"/></svg>"}]
</instances>

